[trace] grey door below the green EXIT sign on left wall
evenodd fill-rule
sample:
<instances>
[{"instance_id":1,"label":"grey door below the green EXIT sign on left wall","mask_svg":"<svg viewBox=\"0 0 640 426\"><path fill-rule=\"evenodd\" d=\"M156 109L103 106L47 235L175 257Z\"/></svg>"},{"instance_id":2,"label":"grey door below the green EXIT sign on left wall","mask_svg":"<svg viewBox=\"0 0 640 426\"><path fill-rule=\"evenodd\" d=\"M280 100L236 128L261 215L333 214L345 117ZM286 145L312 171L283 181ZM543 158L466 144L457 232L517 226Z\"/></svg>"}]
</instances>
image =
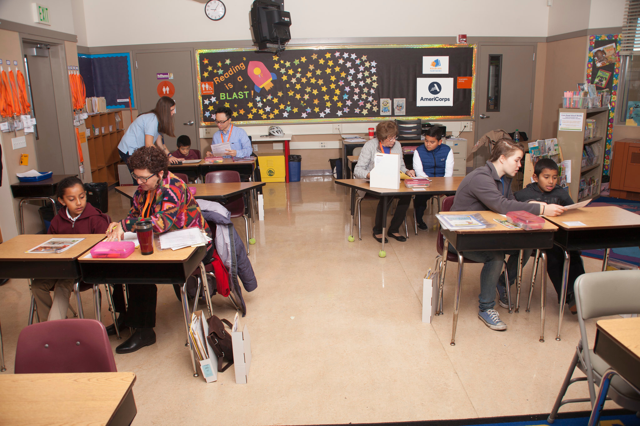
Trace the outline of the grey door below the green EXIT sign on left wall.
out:
<instances>
[{"instance_id":1,"label":"grey door below the green EXIT sign on left wall","mask_svg":"<svg viewBox=\"0 0 640 426\"><path fill-rule=\"evenodd\" d=\"M36 45L24 43L24 50ZM41 52L47 49L39 49ZM42 53L41 53L42 54ZM51 59L47 56L25 55L27 78L31 87L33 116L36 118L36 156L40 170L65 174L53 91ZM75 142L74 142L75 143ZM35 165L35 162L34 162Z\"/></svg>"}]
</instances>

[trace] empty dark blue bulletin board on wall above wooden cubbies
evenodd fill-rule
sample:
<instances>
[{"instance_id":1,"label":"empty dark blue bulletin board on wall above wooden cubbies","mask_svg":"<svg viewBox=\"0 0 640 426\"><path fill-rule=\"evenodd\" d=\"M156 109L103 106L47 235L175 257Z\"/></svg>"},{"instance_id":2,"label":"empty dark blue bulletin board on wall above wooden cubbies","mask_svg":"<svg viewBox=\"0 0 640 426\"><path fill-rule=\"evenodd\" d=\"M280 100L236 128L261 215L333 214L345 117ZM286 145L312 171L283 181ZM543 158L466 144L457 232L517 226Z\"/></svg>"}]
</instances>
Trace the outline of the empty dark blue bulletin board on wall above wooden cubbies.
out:
<instances>
[{"instance_id":1,"label":"empty dark blue bulletin board on wall above wooden cubbies","mask_svg":"<svg viewBox=\"0 0 640 426\"><path fill-rule=\"evenodd\" d=\"M104 96L108 109L129 108L133 100L133 82L131 74L131 56L128 53L102 55L78 54L78 68L86 87L86 96Z\"/></svg>"}]
</instances>

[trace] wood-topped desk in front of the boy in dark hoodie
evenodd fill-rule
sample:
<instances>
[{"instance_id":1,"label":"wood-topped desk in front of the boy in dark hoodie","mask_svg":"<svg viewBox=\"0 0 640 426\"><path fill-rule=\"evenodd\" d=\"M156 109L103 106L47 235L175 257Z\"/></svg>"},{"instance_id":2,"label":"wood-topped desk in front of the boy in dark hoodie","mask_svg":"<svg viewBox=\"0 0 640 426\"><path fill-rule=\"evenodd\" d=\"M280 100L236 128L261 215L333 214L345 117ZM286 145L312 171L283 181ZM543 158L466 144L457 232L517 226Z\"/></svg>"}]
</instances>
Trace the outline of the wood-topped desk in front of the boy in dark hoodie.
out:
<instances>
[{"instance_id":1,"label":"wood-topped desk in front of the boy in dark hoodie","mask_svg":"<svg viewBox=\"0 0 640 426\"><path fill-rule=\"evenodd\" d=\"M554 236L554 244L564 250L560 317L556 335L556 340L560 340L569 277L569 251L604 248L602 270L606 270L610 248L634 247L640 244L640 215L617 206L604 206L573 209L560 216L545 217L545 219L558 226L559 229ZM564 223L575 221L582 222L585 226Z\"/></svg>"}]
</instances>

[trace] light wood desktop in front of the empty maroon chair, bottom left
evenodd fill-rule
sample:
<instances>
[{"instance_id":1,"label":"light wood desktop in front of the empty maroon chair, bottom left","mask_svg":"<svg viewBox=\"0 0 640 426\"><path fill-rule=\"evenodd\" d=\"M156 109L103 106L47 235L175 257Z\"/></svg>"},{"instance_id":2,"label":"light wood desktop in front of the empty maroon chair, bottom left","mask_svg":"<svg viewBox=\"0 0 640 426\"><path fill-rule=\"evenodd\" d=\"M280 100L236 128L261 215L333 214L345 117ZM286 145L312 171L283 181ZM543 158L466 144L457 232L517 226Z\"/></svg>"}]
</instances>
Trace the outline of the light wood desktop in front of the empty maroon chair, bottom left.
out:
<instances>
[{"instance_id":1,"label":"light wood desktop in front of the empty maroon chair, bottom left","mask_svg":"<svg viewBox=\"0 0 640 426\"><path fill-rule=\"evenodd\" d=\"M3 374L0 424L107 425L135 381L132 372Z\"/></svg>"}]
</instances>

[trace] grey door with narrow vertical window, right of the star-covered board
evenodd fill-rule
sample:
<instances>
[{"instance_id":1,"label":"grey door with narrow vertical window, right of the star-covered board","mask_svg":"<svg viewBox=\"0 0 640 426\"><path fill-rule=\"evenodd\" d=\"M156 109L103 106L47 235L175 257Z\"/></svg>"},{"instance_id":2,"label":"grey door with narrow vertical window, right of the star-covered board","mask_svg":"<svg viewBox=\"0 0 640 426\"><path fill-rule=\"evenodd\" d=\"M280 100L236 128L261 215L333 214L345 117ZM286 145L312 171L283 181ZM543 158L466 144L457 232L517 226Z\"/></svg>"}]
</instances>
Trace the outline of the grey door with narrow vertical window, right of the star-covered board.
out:
<instances>
[{"instance_id":1,"label":"grey door with narrow vertical window, right of the star-covered board","mask_svg":"<svg viewBox=\"0 0 640 426\"><path fill-rule=\"evenodd\" d=\"M534 47L479 48L477 79L477 139L491 130L516 129L531 135ZM488 150L478 149L474 168L488 160Z\"/></svg>"}]
</instances>

